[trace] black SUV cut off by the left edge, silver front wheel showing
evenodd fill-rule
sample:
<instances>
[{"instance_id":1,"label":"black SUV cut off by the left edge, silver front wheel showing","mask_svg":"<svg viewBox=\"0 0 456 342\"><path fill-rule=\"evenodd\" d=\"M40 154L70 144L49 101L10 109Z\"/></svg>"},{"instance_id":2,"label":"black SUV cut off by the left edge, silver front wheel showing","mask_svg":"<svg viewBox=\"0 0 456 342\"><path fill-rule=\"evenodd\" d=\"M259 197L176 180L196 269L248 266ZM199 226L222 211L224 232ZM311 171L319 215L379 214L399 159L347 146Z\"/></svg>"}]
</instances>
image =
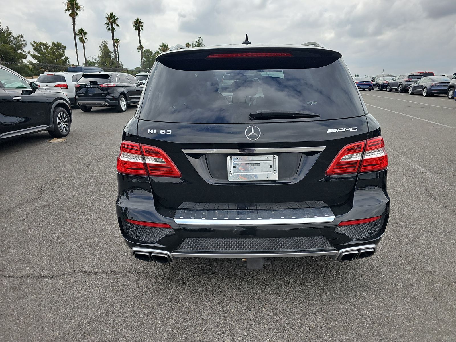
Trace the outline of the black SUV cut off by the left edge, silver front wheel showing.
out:
<instances>
[{"instance_id":1,"label":"black SUV cut off by the left edge, silver front wheel showing","mask_svg":"<svg viewBox=\"0 0 456 342\"><path fill-rule=\"evenodd\" d=\"M38 88L0 65L0 141L44 130L61 138L70 132L72 119L70 102L60 88Z\"/></svg>"}]
</instances>

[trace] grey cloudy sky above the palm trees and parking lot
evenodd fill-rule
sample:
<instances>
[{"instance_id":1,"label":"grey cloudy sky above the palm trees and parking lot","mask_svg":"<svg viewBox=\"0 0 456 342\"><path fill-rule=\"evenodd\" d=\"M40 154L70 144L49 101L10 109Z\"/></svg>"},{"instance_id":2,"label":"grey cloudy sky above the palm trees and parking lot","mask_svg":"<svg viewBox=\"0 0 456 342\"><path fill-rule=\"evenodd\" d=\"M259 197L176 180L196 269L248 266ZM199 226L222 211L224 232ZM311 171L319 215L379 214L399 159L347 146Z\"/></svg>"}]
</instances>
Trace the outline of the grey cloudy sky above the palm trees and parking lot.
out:
<instances>
[{"instance_id":1,"label":"grey cloudy sky above the palm trees and parking lot","mask_svg":"<svg viewBox=\"0 0 456 342\"><path fill-rule=\"evenodd\" d=\"M62 0L3 3L2 26L31 41L60 41L76 63L71 18ZM120 28L120 60L140 64L132 21L144 21L145 48L161 42L185 44L202 36L205 45L253 43L301 44L318 41L342 53L352 74L376 75L431 70L456 72L456 0L79 0L84 6L76 29L88 32L87 56L110 42L104 16L113 11ZM31 49L29 45L27 49ZM82 47L79 60L83 60Z\"/></svg>"}]
</instances>

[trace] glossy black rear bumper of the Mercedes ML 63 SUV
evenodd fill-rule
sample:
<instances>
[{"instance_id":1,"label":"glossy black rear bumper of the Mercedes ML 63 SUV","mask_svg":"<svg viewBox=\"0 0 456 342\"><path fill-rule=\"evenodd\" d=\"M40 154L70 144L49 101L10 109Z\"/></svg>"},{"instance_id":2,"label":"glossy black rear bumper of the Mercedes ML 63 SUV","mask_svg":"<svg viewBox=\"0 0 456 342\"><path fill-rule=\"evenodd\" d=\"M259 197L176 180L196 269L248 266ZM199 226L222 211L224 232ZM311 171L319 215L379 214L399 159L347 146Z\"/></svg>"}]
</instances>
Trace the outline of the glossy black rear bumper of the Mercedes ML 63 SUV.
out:
<instances>
[{"instance_id":1,"label":"glossy black rear bumper of the Mercedes ML 63 SUV","mask_svg":"<svg viewBox=\"0 0 456 342\"><path fill-rule=\"evenodd\" d=\"M341 250L375 249L386 229L390 200L386 192L387 171L367 174L368 183L378 187L363 187L358 180L348 212L336 215L332 222L295 224L178 224L174 214L163 216L155 210L152 192L137 189L137 179L131 179L128 192L120 191L116 210L120 231L133 251L153 249L174 257L207 258L272 258L328 255L337 258ZM125 184L128 176L118 175ZM367 179L366 178L366 179ZM136 186L135 186L136 184ZM378 217L373 226L339 226L342 221ZM166 223L170 228L126 226L125 219ZM361 227L363 226L363 227ZM147 253L147 252L145 252Z\"/></svg>"}]
</instances>

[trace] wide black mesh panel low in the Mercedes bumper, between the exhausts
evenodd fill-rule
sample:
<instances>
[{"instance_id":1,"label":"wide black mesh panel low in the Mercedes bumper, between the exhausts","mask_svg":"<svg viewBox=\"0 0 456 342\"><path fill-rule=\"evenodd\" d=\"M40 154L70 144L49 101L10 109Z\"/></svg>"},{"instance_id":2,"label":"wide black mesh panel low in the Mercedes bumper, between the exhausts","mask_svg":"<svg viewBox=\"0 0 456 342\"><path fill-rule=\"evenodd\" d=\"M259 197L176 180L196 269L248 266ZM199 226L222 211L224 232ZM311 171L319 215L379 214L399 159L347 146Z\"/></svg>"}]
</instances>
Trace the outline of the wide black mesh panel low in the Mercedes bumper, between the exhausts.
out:
<instances>
[{"instance_id":1,"label":"wide black mesh panel low in the Mercedes bumper, between the exhausts","mask_svg":"<svg viewBox=\"0 0 456 342\"><path fill-rule=\"evenodd\" d=\"M264 252L334 249L322 236L296 238L186 238L176 251Z\"/></svg>"}]
</instances>

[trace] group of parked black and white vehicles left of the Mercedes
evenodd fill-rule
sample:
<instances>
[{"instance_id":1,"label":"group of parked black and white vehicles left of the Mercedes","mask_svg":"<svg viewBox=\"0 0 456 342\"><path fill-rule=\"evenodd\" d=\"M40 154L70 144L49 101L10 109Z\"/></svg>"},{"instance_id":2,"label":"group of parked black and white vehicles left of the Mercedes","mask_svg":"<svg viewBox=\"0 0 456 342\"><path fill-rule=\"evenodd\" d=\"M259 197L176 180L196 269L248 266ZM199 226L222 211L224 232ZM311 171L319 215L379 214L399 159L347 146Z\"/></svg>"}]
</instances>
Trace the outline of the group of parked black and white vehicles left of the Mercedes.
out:
<instances>
[{"instance_id":1,"label":"group of parked black and white vehicles left of the Mercedes","mask_svg":"<svg viewBox=\"0 0 456 342\"><path fill-rule=\"evenodd\" d=\"M127 105L138 103L148 75L75 66L29 80L0 65L0 141L40 131L56 138L67 136L72 107L88 112L103 106L124 112Z\"/></svg>"}]
</instances>

